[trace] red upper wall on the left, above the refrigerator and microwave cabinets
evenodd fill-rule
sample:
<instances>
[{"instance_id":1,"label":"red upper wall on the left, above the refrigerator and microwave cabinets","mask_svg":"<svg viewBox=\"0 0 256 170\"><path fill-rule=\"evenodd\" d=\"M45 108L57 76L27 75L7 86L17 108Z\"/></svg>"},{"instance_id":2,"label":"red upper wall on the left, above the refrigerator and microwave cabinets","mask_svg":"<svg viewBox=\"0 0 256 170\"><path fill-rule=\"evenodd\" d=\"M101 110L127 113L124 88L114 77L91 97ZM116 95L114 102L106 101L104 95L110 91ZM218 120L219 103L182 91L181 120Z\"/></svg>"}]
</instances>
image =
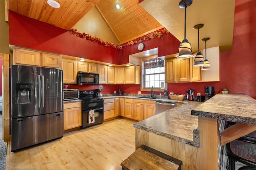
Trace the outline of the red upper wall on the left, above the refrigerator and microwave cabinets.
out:
<instances>
[{"instance_id":1,"label":"red upper wall on the left, above the refrigerator and microwave cabinets","mask_svg":"<svg viewBox=\"0 0 256 170\"><path fill-rule=\"evenodd\" d=\"M98 45L53 25L9 11L9 43L20 47L48 51L118 64L116 49Z\"/></svg>"}]
</instances>

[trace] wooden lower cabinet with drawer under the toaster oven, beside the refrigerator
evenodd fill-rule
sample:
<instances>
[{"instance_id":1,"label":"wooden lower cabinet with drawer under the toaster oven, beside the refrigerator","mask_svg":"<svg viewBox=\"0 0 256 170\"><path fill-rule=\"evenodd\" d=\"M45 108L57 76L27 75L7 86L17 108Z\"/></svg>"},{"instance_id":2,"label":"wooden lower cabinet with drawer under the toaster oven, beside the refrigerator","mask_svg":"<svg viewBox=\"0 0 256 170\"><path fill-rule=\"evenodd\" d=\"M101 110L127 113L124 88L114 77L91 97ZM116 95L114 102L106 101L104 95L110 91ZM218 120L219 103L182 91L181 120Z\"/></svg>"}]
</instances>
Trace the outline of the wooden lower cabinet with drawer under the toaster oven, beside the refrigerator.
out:
<instances>
[{"instance_id":1,"label":"wooden lower cabinet with drawer under the toaster oven, beside the refrigerator","mask_svg":"<svg viewBox=\"0 0 256 170\"><path fill-rule=\"evenodd\" d=\"M82 125L81 102L64 103L63 124L64 130Z\"/></svg>"}]
</instances>

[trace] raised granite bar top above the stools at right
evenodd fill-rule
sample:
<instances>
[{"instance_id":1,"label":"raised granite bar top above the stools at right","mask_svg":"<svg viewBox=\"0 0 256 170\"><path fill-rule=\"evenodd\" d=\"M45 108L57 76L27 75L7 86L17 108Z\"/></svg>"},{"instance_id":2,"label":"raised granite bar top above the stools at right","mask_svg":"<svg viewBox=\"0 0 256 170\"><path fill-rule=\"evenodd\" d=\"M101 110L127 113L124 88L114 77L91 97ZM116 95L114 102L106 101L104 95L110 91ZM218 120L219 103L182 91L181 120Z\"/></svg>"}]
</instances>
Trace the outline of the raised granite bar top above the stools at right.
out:
<instances>
[{"instance_id":1,"label":"raised granite bar top above the stools at right","mask_svg":"<svg viewBox=\"0 0 256 170\"><path fill-rule=\"evenodd\" d=\"M256 125L255 106L256 100L245 94L217 94L192 109L191 114Z\"/></svg>"}]
</instances>

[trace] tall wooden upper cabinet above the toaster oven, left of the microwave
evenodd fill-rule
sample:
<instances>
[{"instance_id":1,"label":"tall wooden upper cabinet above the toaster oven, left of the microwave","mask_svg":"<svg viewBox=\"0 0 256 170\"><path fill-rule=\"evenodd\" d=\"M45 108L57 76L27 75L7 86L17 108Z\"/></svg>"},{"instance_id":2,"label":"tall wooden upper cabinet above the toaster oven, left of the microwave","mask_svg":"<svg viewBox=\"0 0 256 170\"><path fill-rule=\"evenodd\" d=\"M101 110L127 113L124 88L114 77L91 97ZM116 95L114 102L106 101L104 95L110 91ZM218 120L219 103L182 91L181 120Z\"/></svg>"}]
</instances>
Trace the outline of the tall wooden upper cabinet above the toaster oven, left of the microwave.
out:
<instances>
[{"instance_id":1,"label":"tall wooden upper cabinet above the toaster oven, left of the microwave","mask_svg":"<svg viewBox=\"0 0 256 170\"><path fill-rule=\"evenodd\" d=\"M62 59L63 83L77 83L78 61Z\"/></svg>"}]
</instances>

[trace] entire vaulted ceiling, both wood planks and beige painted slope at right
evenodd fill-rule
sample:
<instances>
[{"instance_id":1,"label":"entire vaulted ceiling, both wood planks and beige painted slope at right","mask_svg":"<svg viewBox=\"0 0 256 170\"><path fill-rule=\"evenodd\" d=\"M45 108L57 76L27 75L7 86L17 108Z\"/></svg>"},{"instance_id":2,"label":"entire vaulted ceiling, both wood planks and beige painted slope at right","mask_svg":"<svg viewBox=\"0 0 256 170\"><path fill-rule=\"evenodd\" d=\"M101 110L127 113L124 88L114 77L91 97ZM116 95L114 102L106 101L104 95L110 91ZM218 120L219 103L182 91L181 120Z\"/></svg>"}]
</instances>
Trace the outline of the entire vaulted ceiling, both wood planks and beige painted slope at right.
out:
<instances>
[{"instance_id":1,"label":"entire vaulted ceiling, both wood planks and beige painted slope at right","mask_svg":"<svg viewBox=\"0 0 256 170\"><path fill-rule=\"evenodd\" d=\"M52 8L47 0L7 0L8 9L62 29L71 29L96 7L119 43L146 35L165 27L178 40L184 39L184 9L178 0L56 0L60 8ZM203 23L200 39L210 37L207 47L232 49L235 0L194 0L187 8L186 35L193 52L198 48L194 25ZM120 10L114 5L119 3ZM204 43L200 42L200 49Z\"/></svg>"}]
</instances>

